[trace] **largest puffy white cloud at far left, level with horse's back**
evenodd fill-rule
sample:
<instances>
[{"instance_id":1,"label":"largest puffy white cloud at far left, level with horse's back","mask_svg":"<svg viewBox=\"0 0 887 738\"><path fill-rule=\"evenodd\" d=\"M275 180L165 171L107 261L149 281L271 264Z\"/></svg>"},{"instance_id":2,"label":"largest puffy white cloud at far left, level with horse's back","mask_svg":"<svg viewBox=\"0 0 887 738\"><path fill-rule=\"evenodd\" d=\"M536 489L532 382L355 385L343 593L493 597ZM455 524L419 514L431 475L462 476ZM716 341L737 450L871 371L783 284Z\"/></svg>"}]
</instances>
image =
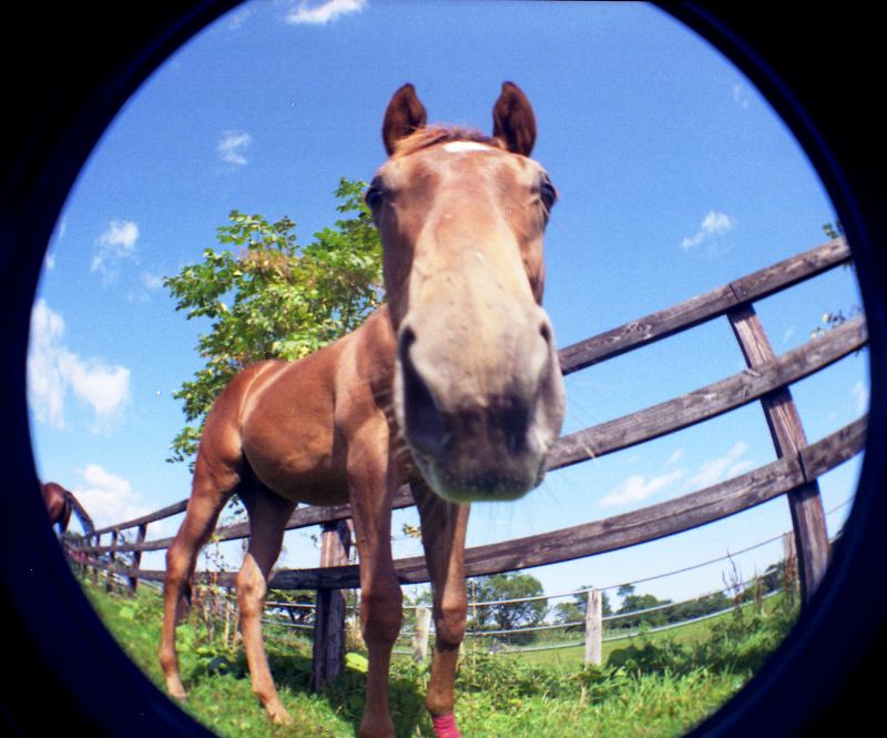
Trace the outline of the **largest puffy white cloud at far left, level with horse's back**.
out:
<instances>
[{"instance_id":1,"label":"largest puffy white cloud at far left, level with horse's back","mask_svg":"<svg viewBox=\"0 0 887 738\"><path fill-rule=\"evenodd\" d=\"M96 427L104 427L130 398L130 370L99 358L82 360L64 345L64 321L40 300L31 313L28 353L28 402L34 417L64 427L64 404L69 391L95 414Z\"/></svg>"}]
</instances>

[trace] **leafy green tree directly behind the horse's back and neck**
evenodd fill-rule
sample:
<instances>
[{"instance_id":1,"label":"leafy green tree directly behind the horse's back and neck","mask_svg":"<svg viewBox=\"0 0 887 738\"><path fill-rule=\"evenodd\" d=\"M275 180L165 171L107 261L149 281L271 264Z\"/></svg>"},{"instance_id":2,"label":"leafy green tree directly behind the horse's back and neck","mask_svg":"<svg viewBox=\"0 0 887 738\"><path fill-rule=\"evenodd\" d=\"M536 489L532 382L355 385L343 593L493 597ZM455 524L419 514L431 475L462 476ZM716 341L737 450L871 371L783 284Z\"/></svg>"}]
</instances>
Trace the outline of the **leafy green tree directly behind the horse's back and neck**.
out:
<instances>
[{"instance_id":1,"label":"leafy green tree directly behind the horse's back and neck","mask_svg":"<svg viewBox=\"0 0 887 738\"><path fill-rule=\"evenodd\" d=\"M299 246L296 224L232 211L217 229L224 251L206 249L163 284L187 320L208 319L197 353L205 361L174 393L185 427L167 461L197 449L206 414L245 366L265 358L295 360L354 331L383 301L381 246L361 193L366 183L341 179L338 212L349 214Z\"/></svg>"}]
</instances>

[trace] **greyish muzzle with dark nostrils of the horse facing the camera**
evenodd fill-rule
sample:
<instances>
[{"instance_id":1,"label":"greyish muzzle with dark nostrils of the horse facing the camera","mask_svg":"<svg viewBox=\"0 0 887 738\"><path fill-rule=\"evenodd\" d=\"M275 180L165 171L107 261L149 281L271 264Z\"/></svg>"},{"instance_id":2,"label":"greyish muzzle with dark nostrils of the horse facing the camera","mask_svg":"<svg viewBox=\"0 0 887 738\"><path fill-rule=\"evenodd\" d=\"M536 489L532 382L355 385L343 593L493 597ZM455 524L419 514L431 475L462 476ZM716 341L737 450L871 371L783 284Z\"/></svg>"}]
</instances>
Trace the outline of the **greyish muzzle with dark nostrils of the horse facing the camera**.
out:
<instances>
[{"instance_id":1,"label":"greyish muzzle with dark nostrils of the horse facing the camera","mask_svg":"<svg viewBox=\"0 0 887 738\"><path fill-rule=\"evenodd\" d=\"M530 335L506 331L479 347L456 331L446 352L437 350L440 341L422 351L416 330L401 326L395 412L414 461L441 497L509 501L541 483L563 422L564 390L551 326L538 313Z\"/></svg>"}]
</instances>

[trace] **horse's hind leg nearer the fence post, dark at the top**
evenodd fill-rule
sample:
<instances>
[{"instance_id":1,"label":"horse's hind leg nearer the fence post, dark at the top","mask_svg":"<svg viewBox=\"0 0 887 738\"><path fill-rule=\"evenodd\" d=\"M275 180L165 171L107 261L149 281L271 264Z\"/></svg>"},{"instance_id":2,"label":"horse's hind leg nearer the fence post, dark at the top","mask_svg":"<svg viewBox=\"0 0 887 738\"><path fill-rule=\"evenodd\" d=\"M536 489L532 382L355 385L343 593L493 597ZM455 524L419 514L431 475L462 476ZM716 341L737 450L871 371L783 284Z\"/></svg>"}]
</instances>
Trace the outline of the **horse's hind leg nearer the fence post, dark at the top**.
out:
<instances>
[{"instance_id":1,"label":"horse's hind leg nearer the fence post, dark at the top","mask_svg":"<svg viewBox=\"0 0 887 738\"><path fill-rule=\"evenodd\" d=\"M253 694L274 722L286 724L289 714L281 702L268 668L262 638L262 615L265 611L268 575L281 554L284 530L296 504L265 489L256 495L244 495L244 502L249 514L249 547L236 579L241 634Z\"/></svg>"}]
</instances>

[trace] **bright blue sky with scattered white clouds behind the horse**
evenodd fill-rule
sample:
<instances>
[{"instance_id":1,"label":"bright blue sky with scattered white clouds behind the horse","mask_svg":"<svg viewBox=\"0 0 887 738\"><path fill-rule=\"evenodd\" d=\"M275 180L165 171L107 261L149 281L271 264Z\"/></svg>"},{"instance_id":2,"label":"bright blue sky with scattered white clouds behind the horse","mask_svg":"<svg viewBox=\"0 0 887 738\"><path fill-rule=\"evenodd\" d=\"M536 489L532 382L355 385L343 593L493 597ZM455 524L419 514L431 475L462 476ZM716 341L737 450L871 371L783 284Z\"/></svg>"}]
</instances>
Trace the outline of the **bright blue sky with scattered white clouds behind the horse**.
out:
<instances>
[{"instance_id":1,"label":"bright blue sky with scattered white clouds behind the horse","mask_svg":"<svg viewBox=\"0 0 887 738\"><path fill-rule=\"evenodd\" d=\"M549 312L565 346L827 239L837 216L791 132L706 41L641 3L252 2L220 18L129 100L60 213L34 303L29 407L43 481L96 525L187 496L165 459L184 424L172 394L201 366L207 324L176 313L162 279L201 260L236 209L288 215L303 243L337 218L340 176L384 162L381 119L412 82L429 120L487 132L502 81L537 115L533 158L560 192L546 237ZM825 312L860 304L837 269L757 304L777 354ZM567 378L563 432L615 418L744 368L725 319ZM866 352L793 387L810 442L866 412ZM475 505L469 545L554 530L679 497L775 457L759 405L549 474L519 502ZM822 479L835 535L859 459ZM834 510L834 512L832 512ZM420 553L395 514L398 556ZM173 535L181 518L152 524ZM74 529L77 525L74 524ZM775 563L779 498L671 538L530 573L548 594L616 586L734 555L638 590L683 599ZM228 566L239 545L223 547ZM310 532L282 566L316 566ZM162 568L146 555L145 568ZM611 598L614 597L614 590Z\"/></svg>"}]
</instances>

